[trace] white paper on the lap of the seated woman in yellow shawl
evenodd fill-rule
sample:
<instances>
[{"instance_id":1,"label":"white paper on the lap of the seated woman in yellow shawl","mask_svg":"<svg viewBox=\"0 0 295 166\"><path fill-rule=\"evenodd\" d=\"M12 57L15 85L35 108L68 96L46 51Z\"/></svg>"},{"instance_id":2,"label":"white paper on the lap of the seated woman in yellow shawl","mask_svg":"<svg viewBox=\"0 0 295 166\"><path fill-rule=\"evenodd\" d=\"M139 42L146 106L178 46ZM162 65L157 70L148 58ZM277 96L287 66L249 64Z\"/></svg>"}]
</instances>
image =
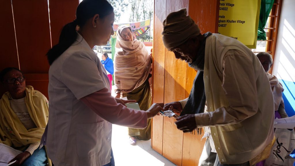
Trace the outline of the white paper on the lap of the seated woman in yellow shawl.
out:
<instances>
[{"instance_id":1,"label":"white paper on the lap of the seated woman in yellow shawl","mask_svg":"<svg viewBox=\"0 0 295 166\"><path fill-rule=\"evenodd\" d=\"M20 153L22 153L22 151L13 149L12 147L0 143L0 162L6 163L5 166L10 160L12 160L15 156L17 156Z\"/></svg>"}]
</instances>

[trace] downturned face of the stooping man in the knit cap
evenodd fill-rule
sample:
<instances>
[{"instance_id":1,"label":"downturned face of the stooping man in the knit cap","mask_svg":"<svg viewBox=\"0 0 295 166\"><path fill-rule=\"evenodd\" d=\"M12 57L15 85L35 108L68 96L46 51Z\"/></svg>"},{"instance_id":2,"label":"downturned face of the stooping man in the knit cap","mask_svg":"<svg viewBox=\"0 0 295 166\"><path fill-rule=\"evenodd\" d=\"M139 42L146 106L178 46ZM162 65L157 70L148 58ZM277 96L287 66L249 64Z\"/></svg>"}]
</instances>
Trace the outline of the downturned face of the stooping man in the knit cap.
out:
<instances>
[{"instance_id":1,"label":"downturned face of the stooping man in the knit cap","mask_svg":"<svg viewBox=\"0 0 295 166\"><path fill-rule=\"evenodd\" d=\"M188 40L177 47L170 49L175 55L176 59L186 61L186 63L193 63L197 56L198 44L193 40Z\"/></svg>"}]
</instances>

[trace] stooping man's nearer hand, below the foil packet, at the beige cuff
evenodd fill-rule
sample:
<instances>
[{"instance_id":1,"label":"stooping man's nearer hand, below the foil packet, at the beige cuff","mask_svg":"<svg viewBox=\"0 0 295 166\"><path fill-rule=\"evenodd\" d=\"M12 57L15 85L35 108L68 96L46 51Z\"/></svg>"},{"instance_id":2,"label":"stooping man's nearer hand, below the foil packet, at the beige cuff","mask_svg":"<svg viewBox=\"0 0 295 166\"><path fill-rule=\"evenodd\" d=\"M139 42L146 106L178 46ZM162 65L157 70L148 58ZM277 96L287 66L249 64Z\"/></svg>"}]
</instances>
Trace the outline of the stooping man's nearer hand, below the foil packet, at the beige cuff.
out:
<instances>
[{"instance_id":1,"label":"stooping man's nearer hand, below the foil packet, at the beige cuff","mask_svg":"<svg viewBox=\"0 0 295 166\"><path fill-rule=\"evenodd\" d=\"M191 132L197 128L196 119L194 114L187 114L176 118L175 125L184 133Z\"/></svg>"}]
</instances>

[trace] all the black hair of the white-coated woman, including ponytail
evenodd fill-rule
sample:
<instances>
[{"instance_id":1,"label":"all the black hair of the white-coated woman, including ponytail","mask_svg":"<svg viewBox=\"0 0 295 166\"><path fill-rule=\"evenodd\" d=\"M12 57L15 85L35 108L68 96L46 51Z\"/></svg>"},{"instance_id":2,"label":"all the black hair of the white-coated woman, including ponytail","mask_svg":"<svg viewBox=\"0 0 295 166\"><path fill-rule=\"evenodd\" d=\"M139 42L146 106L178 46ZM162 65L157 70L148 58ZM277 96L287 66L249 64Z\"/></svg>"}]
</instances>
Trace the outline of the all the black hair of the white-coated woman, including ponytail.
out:
<instances>
[{"instance_id":1,"label":"all the black hair of the white-coated woman, including ponytail","mask_svg":"<svg viewBox=\"0 0 295 166\"><path fill-rule=\"evenodd\" d=\"M99 14L99 18L104 18L113 11L114 8L107 0L83 0L76 9L76 19L63 27L58 44L47 52L49 65L75 42L78 36L77 25L83 27L95 14Z\"/></svg>"}]
</instances>

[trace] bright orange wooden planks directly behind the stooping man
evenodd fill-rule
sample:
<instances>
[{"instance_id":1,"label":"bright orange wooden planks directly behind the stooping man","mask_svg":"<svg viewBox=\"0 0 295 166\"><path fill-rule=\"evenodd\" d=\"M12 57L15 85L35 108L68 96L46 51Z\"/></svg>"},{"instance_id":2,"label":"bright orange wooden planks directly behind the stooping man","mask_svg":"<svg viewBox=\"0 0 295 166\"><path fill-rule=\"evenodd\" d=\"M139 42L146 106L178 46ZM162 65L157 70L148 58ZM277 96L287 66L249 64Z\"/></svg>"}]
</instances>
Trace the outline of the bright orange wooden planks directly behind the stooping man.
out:
<instances>
[{"instance_id":1,"label":"bright orange wooden planks directly behind the stooping man","mask_svg":"<svg viewBox=\"0 0 295 166\"><path fill-rule=\"evenodd\" d=\"M196 71L184 61L176 60L162 41L162 22L170 12L184 7L201 33L218 30L217 0L155 0L153 102L168 103L189 97L196 76ZM174 122L173 118L153 118L152 148L176 165L198 165L205 140L201 141L202 136L183 134Z\"/></svg>"}]
</instances>

